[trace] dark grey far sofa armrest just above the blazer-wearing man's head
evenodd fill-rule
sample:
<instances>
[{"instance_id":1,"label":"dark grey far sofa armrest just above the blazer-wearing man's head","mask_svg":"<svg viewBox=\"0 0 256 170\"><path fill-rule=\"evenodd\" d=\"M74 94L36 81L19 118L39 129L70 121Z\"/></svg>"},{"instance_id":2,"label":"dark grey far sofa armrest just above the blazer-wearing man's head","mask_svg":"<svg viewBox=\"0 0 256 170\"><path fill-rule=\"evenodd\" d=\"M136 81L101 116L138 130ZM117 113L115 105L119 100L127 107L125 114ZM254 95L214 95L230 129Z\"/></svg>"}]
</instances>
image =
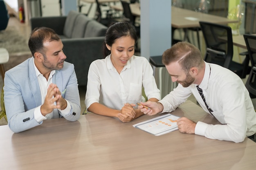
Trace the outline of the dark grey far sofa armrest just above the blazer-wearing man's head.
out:
<instances>
[{"instance_id":1,"label":"dark grey far sofa armrest just above the blazer-wearing man's head","mask_svg":"<svg viewBox=\"0 0 256 170\"><path fill-rule=\"evenodd\" d=\"M67 16L54 16L54 17L36 17L30 19L31 30L36 27L49 27L53 29L58 35L63 35L63 28Z\"/></svg>"}]
</instances>

